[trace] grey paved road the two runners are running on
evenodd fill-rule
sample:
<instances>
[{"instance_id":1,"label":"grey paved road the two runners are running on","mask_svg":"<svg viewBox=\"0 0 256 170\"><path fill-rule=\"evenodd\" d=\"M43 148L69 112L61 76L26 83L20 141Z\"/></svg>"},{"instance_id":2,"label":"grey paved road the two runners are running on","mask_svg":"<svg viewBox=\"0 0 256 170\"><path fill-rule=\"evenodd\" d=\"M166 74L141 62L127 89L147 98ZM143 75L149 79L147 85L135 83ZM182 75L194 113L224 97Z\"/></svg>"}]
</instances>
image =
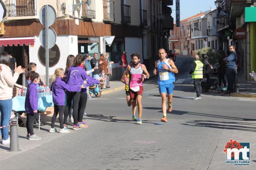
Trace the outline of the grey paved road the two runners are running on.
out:
<instances>
[{"instance_id":1,"label":"grey paved road the two runners are running on","mask_svg":"<svg viewBox=\"0 0 256 170\"><path fill-rule=\"evenodd\" d=\"M229 139L256 144L254 99L220 94L195 96L189 78L192 58L180 57L173 111L160 124L161 99L157 78L144 83L143 125L131 121L124 91L88 101L84 117L89 127L69 134L49 134L39 146L0 161L4 170L227 170L255 169L225 163ZM58 124L58 123L57 123ZM37 133L37 131L36 131ZM23 139L23 142L26 139ZM39 141L26 141L34 144ZM252 151L251 160L256 154ZM15 162L15 164L14 164Z\"/></svg>"}]
</instances>

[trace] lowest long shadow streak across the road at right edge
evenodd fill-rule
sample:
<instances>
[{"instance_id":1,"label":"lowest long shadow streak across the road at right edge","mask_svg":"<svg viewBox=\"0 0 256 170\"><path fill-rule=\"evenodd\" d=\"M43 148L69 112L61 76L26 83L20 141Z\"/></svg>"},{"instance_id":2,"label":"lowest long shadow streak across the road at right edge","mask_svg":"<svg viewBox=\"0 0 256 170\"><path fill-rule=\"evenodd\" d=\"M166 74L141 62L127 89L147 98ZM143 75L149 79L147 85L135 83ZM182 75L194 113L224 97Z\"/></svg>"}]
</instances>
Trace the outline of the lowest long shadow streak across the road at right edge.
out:
<instances>
[{"instance_id":1,"label":"lowest long shadow streak across the road at right edge","mask_svg":"<svg viewBox=\"0 0 256 170\"><path fill-rule=\"evenodd\" d=\"M201 120L194 120L194 121L188 121L186 123L181 123L181 125L187 125L187 126L211 127L211 128L218 128L218 129L244 130L244 131L256 132L256 126L253 124L255 123L218 122L218 121L201 121ZM245 126L241 126L241 125L245 125Z\"/></svg>"}]
</instances>

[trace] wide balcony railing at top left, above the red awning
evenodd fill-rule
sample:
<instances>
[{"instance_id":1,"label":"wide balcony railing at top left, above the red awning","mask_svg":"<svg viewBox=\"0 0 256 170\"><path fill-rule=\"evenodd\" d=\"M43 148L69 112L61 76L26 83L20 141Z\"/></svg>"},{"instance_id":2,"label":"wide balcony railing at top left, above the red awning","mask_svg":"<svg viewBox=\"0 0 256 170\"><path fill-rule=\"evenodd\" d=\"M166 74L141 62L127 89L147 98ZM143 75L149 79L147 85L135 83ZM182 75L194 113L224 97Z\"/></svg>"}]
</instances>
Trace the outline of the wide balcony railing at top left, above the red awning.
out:
<instances>
[{"instance_id":1,"label":"wide balcony railing at top left, above the red awning","mask_svg":"<svg viewBox=\"0 0 256 170\"><path fill-rule=\"evenodd\" d=\"M35 0L6 0L4 1L7 17L36 16Z\"/></svg>"}]
</instances>

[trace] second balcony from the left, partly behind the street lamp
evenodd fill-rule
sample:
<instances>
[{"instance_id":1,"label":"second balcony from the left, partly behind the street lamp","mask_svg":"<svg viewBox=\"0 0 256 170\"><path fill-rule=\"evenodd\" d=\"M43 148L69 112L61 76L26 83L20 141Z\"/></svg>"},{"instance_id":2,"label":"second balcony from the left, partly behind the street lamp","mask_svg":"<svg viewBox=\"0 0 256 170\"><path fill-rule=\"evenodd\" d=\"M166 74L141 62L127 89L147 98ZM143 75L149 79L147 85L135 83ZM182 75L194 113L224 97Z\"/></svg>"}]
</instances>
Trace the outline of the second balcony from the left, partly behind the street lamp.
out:
<instances>
[{"instance_id":1,"label":"second balcony from the left, partly behind the street lamp","mask_svg":"<svg viewBox=\"0 0 256 170\"><path fill-rule=\"evenodd\" d=\"M87 2L87 0L82 0L82 2ZM91 0L90 6L87 3L82 4L82 18L95 19L96 11L95 11L95 0Z\"/></svg>"}]
</instances>

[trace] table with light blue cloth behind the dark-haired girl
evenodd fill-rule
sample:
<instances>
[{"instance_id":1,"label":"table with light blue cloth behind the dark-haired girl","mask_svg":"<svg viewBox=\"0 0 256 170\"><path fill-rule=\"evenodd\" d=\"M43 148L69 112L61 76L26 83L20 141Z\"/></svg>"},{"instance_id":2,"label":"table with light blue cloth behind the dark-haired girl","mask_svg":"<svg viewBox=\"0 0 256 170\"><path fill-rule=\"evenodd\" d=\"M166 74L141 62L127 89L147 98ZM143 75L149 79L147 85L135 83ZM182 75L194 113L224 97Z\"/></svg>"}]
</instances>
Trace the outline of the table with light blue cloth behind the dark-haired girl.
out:
<instances>
[{"instance_id":1,"label":"table with light blue cloth behind the dark-haired girl","mask_svg":"<svg viewBox=\"0 0 256 170\"><path fill-rule=\"evenodd\" d=\"M17 116L22 113L26 113L25 111L25 98L26 96L15 96L12 99L12 111L17 113ZM41 113L46 111L46 108L52 107L52 95L42 96L38 98L38 113L35 114L35 123L38 124L38 129L40 130L40 116ZM37 122L38 121L38 122ZM43 122L44 122L44 114L43 114Z\"/></svg>"}]
</instances>

